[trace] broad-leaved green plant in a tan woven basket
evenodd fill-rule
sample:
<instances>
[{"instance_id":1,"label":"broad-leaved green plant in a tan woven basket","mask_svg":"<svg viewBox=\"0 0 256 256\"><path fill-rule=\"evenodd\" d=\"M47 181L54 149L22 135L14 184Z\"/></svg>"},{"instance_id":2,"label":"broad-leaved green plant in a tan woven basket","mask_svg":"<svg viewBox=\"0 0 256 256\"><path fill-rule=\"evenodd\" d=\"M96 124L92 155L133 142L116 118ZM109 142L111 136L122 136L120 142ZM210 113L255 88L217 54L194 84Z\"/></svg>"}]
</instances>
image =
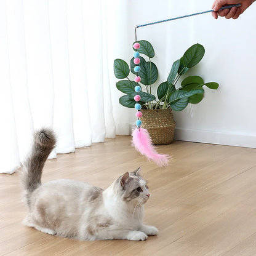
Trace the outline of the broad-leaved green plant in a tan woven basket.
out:
<instances>
[{"instance_id":1,"label":"broad-leaved green plant in a tan woven basket","mask_svg":"<svg viewBox=\"0 0 256 256\"><path fill-rule=\"evenodd\" d=\"M172 142L174 137L175 122L172 110L182 111L188 103L197 104L204 97L203 86L210 89L217 89L217 82L204 82L200 76L188 76L182 80L180 86L177 82L190 68L196 66L204 56L204 47L201 44L194 44L186 50L185 54L176 60L170 69L167 81L161 82L157 88L157 97L152 94L152 87L158 80L158 68L151 61L154 57L154 49L150 42L138 41L140 48L140 71L134 71L134 57L130 60L129 65L121 59L114 60L114 74L116 78L122 79L116 83L118 90L123 92L119 103L127 108L134 108L134 96L137 94L134 90L135 86L142 87L140 92L140 105L142 105L143 127L148 129L153 143L155 145L168 144ZM145 55L148 61L142 56ZM140 83L131 81L129 74L138 74L141 78ZM125 80L123 80L126 78ZM143 90L145 88L145 90ZM163 119L162 119L163 118ZM155 138L158 137L158 138Z\"/></svg>"}]
</instances>

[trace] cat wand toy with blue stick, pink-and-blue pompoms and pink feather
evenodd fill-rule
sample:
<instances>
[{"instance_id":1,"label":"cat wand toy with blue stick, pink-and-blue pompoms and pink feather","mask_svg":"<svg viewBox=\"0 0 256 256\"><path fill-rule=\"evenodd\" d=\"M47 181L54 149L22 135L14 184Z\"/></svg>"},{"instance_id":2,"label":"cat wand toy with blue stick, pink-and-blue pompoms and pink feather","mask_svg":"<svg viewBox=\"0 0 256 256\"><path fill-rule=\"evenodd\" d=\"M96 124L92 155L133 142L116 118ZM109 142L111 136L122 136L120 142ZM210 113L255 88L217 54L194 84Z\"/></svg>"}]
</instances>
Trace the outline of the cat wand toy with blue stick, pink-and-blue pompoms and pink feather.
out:
<instances>
[{"instance_id":1,"label":"cat wand toy with blue stick, pink-and-blue pompoms and pink feather","mask_svg":"<svg viewBox=\"0 0 256 256\"><path fill-rule=\"evenodd\" d=\"M219 10L223 9L231 9L232 7L239 7L241 4L234 4L231 6L223 6ZM137 86L135 86L134 90L137 92L137 94L134 97L135 100L135 109L137 110L136 116L137 120L135 121L135 129L132 132L132 144L134 145L135 149L139 151L143 156L146 156L148 160L156 162L159 167L164 167L168 165L168 161L170 159L170 156L168 154L159 154L156 151L156 148L154 147L152 140L150 138L150 135L148 134L148 130L142 128L142 112L140 111L142 109L142 105L140 105L140 92L142 90L142 87L140 86L139 82L141 80L140 78L140 44L137 41L137 28L143 27L143 26L149 26L149 25L154 25L162 22L169 22L171 20L177 20L179 18L186 18L186 17L191 17L194 15L199 15L199 14L206 14L207 12L214 12L214 10L206 10L204 12L197 12L195 14L189 14L189 15L184 15L180 17L175 17L175 18L169 18L167 20L159 20L157 22L151 22L151 23L146 23L143 25L137 25L135 27L135 43L133 45L134 47L134 64L136 65L134 67L134 72L137 74L134 81L137 82Z\"/></svg>"}]
</instances>

